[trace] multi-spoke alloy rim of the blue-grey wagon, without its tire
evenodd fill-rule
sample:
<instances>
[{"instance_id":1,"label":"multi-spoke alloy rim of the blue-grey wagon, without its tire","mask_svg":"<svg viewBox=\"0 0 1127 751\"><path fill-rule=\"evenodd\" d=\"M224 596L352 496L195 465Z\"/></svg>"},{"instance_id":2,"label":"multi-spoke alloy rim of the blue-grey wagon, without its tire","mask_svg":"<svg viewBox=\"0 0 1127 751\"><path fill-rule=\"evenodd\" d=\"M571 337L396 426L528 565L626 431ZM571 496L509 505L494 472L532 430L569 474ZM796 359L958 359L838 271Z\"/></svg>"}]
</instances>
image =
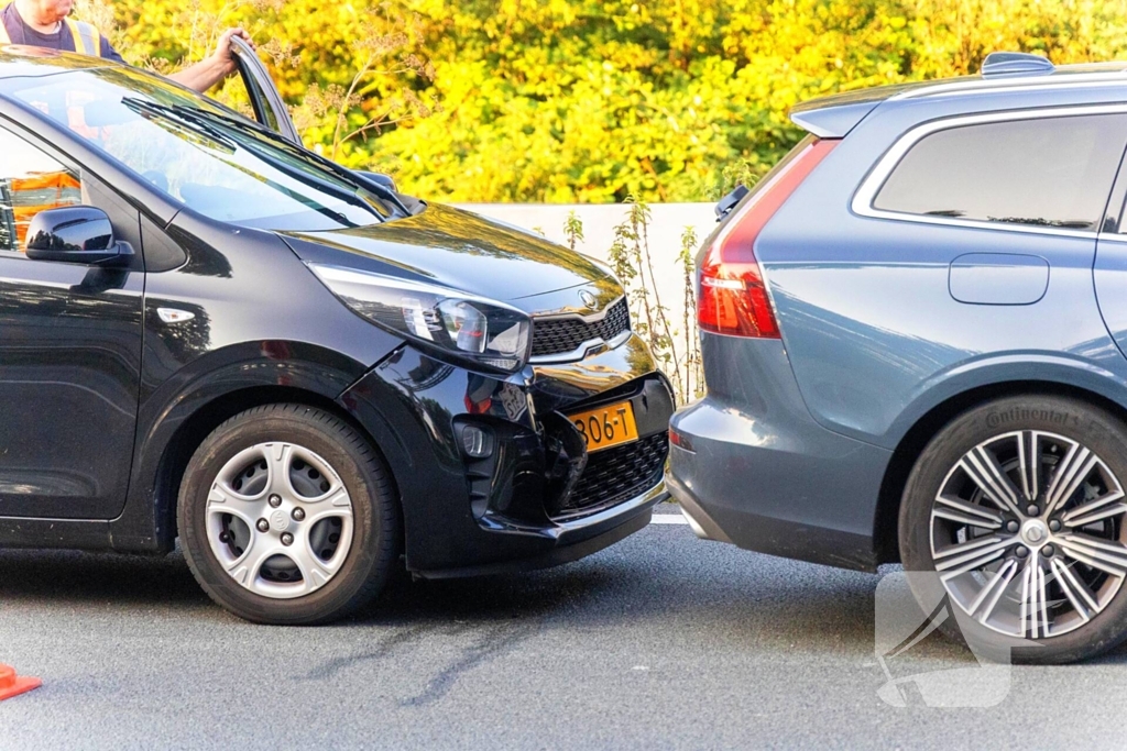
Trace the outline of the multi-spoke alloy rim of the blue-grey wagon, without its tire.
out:
<instances>
[{"instance_id":1,"label":"multi-spoke alloy rim of the blue-grey wagon, without its tire","mask_svg":"<svg viewBox=\"0 0 1127 751\"><path fill-rule=\"evenodd\" d=\"M1047 638L1084 625L1127 578L1124 490L1077 441L1040 431L983 441L932 504L931 549L948 594L1002 634Z\"/></svg>"}]
</instances>

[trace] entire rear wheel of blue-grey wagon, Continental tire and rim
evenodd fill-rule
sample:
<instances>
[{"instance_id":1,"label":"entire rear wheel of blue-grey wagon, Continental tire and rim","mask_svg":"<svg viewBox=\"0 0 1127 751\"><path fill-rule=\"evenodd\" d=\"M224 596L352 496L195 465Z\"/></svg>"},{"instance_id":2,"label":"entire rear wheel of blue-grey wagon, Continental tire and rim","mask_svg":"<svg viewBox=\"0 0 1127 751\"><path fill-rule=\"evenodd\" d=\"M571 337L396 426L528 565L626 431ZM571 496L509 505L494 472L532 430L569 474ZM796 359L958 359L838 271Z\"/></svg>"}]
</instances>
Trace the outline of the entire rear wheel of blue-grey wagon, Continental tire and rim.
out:
<instances>
[{"instance_id":1,"label":"entire rear wheel of blue-grey wagon, Continental tire and rim","mask_svg":"<svg viewBox=\"0 0 1127 751\"><path fill-rule=\"evenodd\" d=\"M925 613L946 600L940 628L987 659L1106 652L1127 637L1125 482L1127 429L1091 404L1030 395L962 413L904 489L913 593Z\"/></svg>"}]
</instances>

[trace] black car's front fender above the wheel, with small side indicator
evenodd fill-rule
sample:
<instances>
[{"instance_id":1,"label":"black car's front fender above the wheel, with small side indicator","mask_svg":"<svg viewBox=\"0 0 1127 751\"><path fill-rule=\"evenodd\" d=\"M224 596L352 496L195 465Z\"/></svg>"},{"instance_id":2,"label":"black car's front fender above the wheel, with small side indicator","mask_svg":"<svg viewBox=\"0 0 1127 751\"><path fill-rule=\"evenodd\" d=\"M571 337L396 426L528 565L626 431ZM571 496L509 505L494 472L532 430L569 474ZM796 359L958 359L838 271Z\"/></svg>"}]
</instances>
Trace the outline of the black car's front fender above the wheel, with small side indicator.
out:
<instances>
[{"instance_id":1,"label":"black car's front fender above the wheel, with small side indicator","mask_svg":"<svg viewBox=\"0 0 1127 751\"><path fill-rule=\"evenodd\" d=\"M212 429L269 402L340 412L334 400L401 340L310 284L312 274L273 233L188 211L165 229L147 227L147 249L179 248L184 259L148 275L134 466L109 531L115 549L165 552L176 537L179 473Z\"/></svg>"}]
</instances>

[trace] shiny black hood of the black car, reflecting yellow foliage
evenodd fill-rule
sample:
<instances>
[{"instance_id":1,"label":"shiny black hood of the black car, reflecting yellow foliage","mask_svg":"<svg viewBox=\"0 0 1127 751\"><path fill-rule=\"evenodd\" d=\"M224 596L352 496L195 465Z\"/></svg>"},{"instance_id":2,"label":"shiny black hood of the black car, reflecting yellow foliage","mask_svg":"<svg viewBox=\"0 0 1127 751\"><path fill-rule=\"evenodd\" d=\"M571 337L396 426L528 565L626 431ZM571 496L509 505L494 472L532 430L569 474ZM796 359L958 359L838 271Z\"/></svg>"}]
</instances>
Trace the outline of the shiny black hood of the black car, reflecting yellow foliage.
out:
<instances>
[{"instance_id":1,"label":"shiny black hood of the black car, reflecting yellow foliage","mask_svg":"<svg viewBox=\"0 0 1127 751\"><path fill-rule=\"evenodd\" d=\"M529 313L583 312L591 306L579 289L591 292L598 307L622 295L592 259L449 206L431 204L415 216L366 227L281 234L307 262L436 283Z\"/></svg>"}]
</instances>

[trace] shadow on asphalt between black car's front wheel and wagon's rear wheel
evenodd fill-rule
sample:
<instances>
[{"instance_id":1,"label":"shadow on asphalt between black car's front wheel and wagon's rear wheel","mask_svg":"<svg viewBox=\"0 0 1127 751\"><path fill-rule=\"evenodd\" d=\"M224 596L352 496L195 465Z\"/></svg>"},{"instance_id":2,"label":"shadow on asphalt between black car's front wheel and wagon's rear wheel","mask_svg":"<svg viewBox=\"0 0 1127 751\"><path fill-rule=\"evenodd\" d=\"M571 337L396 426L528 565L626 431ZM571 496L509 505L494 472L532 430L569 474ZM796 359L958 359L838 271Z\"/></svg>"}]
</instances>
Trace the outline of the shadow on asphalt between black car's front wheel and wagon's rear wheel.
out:
<instances>
[{"instance_id":1,"label":"shadow on asphalt between black car's front wheel and wagon's rear wheel","mask_svg":"<svg viewBox=\"0 0 1127 751\"><path fill-rule=\"evenodd\" d=\"M653 530L651 530L653 531ZM658 535L674 530L658 530ZM680 530L677 530L680 531ZM689 642L739 650L872 654L878 576L692 540L715 557L681 555L638 536L567 566L445 581L401 576L341 626L535 622L560 628L653 629ZM671 631L675 629L675 631Z\"/></svg>"}]
</instances>

